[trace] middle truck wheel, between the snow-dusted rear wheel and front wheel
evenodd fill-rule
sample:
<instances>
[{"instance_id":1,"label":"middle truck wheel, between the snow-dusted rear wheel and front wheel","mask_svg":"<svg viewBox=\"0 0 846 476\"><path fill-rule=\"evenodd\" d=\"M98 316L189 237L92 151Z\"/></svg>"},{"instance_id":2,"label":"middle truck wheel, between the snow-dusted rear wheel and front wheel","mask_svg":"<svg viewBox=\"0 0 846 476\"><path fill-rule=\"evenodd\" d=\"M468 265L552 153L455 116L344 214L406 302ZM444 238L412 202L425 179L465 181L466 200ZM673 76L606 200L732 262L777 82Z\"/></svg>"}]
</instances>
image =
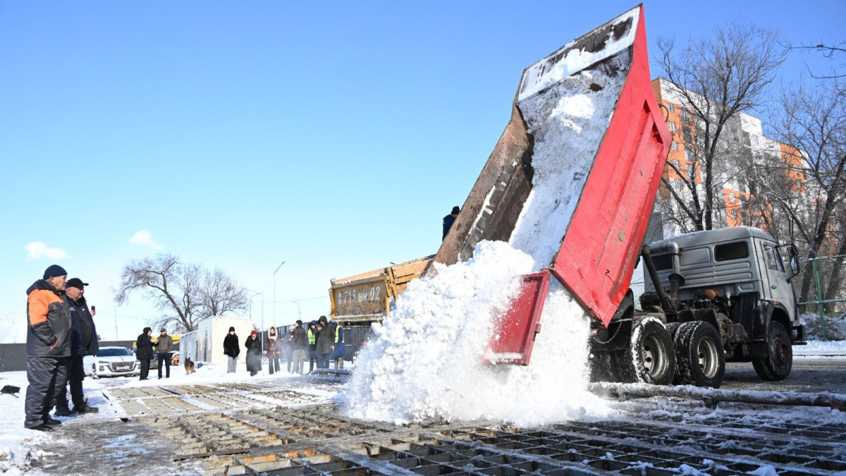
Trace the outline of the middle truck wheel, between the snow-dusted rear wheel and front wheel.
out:
<instances>
[{"instance_id":1,"label":"middle truck wheel, between the snow-dusted rear wheel and front wheel","mask_svg":"<svg viewBox=\"0 0 846 476\"><path fill-rule=\"evenodd\" d=\"M720 388L726 374L726 351L720 333L705 321L682 323L676 330L678 383Z\"/></svg>"}]
</instances>

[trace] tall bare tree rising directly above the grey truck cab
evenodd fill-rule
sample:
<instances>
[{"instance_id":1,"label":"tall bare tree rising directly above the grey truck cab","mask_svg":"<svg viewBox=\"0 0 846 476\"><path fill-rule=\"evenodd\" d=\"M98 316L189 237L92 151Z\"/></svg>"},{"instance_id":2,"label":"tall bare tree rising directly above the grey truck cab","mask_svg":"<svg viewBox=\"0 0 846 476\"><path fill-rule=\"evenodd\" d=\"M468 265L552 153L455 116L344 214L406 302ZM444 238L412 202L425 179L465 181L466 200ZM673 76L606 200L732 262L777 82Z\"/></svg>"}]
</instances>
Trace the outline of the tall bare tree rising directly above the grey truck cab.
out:
<instances>
[{"instance_id":1,"label":"tall bare tree rising directly above the grey truck cab","mask_svg":"<svg viewBox=\"0 0 846 476\"><path fill-rule=\"evenodd\" d=\"M775 33L739 24L719 28L713 36L691 41L680 51L673 39L659 39L658 64L667 80L678 86L674 96L683 117L689 116L676 138L686 147L693 173L668 163L683 187L673 188L671 180L662 179L664 193L680 210L675 219L686 222L682 230L714 228L723 182L737 172L728 167L731 161L721 160L732 153L722 135L730 120L764 101L786 55L777 40Z\"/></svg>"}]
</instances>

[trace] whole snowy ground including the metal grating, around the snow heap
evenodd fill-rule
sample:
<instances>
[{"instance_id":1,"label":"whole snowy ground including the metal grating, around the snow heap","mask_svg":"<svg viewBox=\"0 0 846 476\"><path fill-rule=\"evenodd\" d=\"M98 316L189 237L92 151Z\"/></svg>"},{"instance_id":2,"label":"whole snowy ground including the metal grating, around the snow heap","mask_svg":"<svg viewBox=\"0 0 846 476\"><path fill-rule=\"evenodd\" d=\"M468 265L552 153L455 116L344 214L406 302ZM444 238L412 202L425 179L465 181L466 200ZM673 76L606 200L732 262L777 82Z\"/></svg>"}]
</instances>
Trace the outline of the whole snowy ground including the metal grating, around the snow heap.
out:
<instances>
[{"instance_id":1,"label":"whole snowy ground including the metal grating, around the snow heap","mask_svg":"<svg viewBox=\"0 0 846 476\"><path fill-rule=\"evenodd\" d=\"M750 364L729 364L723 389L846 395L846 342L813 342L794 352L787 380L762 383ZM821 357L826 354L831 357ZM714 408L653 397L609 401L608 418L542 427L491 421L393 425L341 414L337 404L345 399L345 375L264 372L250 378L243 365L236 374L223 372L204 366L185 375L177 367L171 379L85 379L89 401L101 412L60 418L64 424L49 434L23 429L25 373L0 374L0 384L22 389L19 398L0 396L6 410L0 413L0 471L214 474L229 467L233 474L290 466L286 471L292 474L349 474L351 468L403 473L411 468L409 455L418 458L416 473L846 471L846 413L829 407ZM217 455L198 457L201 453ZM459 457L467 461L453 461Z\"/></svg>"}]
</instances>

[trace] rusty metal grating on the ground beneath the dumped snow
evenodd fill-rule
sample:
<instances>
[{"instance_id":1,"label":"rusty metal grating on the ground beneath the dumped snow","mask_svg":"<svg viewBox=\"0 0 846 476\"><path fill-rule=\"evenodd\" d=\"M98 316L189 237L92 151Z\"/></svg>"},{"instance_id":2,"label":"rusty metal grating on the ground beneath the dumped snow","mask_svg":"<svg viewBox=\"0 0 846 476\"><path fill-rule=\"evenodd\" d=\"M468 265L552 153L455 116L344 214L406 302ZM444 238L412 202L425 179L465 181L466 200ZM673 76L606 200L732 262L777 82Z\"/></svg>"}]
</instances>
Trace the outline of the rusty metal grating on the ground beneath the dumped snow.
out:
<instances>
[{"instance_id":1,"label":"rusty metal grating on the ground beneath the dumped snow","mask_svg":"<svg viewBox=\"0 0 846 476\"><path fill-rule=\"evenodd\" d=\"M209 476L846 471L846 424L813 424L811 418L788 423L777 412L652 406L628 412L632 419L543 428L393 425L346 418L326 402L328 392L317 395L331 383L310 384L259 381L112 394L128 414L144 415L141 423L173 441L173 460L181 468Z\"/></svg>"}]
</instances>

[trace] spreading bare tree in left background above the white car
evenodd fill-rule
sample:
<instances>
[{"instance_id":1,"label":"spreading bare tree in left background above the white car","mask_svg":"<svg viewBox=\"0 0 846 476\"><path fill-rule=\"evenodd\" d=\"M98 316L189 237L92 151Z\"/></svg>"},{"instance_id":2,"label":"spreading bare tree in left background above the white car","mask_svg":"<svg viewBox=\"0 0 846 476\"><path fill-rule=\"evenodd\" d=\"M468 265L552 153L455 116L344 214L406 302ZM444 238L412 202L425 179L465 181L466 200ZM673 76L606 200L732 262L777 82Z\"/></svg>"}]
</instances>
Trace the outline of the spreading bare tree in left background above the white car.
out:
<instances>
[{"instance_id":1,"label":"spreading bare tree in left background above the white car","mask_svg":"<svg viewBox=\"0 0 846 476\"><path fill-rule=\"evenodd\" d=\"M209 316L245 308L246 292L219 269L182 263L171 254L129 262L124 266L115 301L123 304L140 291L162 312L153 327L190 332Z\"/></svg>"}]
</instances>

